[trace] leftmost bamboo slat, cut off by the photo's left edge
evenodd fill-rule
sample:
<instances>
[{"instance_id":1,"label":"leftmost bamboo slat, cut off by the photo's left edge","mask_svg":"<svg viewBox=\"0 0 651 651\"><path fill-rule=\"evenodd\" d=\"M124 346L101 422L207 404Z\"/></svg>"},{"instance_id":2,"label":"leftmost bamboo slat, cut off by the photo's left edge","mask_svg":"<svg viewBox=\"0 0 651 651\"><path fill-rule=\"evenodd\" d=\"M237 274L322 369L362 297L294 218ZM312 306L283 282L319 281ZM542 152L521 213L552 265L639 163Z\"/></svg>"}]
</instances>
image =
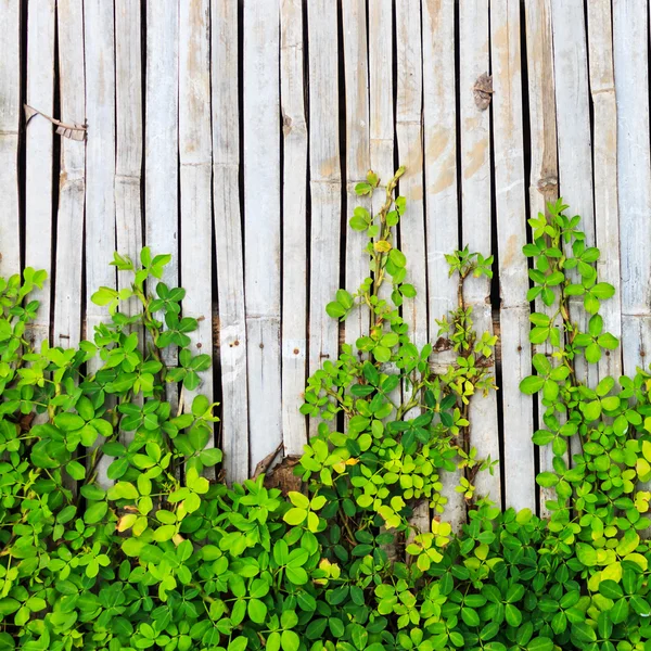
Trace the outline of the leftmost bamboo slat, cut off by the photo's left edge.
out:
<instances>
[{"instance_id":1,"label":"leftmost bamboo slat, cut off by the photo's left edge","mask_svg":"<svg viewBox=\"0 0 651 651\"><path fill-rule=\"evenodd\" d=\"M0 2L0 276L21 271L18 128L21 122L21 3Z\"/></svg>"}]
</instances>

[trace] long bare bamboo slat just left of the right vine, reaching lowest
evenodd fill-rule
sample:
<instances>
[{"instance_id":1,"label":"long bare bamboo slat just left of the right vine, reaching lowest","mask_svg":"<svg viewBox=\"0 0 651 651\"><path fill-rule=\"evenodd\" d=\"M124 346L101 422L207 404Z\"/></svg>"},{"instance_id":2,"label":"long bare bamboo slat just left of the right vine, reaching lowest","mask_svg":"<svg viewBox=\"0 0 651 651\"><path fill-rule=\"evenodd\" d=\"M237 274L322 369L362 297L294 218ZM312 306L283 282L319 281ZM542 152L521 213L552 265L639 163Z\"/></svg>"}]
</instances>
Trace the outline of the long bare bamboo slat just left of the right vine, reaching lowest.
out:
<instances>
[{"instance_id":1,"label":"long bare bamboo slat just left of the right vine, reaching lowest","mask_svg":"<svg viewBox=\"0 0 651 651\"><path fill-rule=\"evenodd\" d=\"M526 259L520 3L490 3L495 192L501 292L506 506L535 510L533 400L519 391L532 372Z\"/></svg>"}]
</instances>

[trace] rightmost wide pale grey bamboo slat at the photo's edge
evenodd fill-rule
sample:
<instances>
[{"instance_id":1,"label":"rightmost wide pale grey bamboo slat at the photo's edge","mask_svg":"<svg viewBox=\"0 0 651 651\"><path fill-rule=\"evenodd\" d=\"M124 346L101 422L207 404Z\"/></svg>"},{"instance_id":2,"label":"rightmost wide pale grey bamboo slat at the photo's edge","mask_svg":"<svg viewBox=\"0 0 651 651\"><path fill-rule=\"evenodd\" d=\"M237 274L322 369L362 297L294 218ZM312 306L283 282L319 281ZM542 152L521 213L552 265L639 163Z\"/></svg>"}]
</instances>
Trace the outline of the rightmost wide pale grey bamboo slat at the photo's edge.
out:
<instances>
[{"instance_id":1,"label":"rightmost wide pale grey bamboo slat at the photo's edge","mask_svg":"<svg viewBox=\"0 0 651 651\"><path fill-rule=\"evenodd\" d=\"M651 173L646 3L613 2L624 372L647 368L651 341ZM644 356L642 356L644 353Z\"/></svg>"}]
</instances>

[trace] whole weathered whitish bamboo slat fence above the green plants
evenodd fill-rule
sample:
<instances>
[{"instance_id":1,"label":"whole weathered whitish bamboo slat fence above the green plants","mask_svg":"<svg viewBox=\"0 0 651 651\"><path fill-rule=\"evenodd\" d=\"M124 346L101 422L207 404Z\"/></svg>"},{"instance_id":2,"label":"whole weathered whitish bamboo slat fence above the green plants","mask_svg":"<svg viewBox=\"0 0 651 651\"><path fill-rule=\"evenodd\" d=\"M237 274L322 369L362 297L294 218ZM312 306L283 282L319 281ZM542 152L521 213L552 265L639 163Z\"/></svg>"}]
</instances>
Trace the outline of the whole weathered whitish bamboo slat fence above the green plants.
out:
<instances>
[{"instance_id":1,"label":"whole weathered whitish bamboo slat fence above the green plants","mask_svg":"<svg viewBox=\"0 0 651 651\"><path fill-rule=\"evenodd\" d=\"M623 346L599 375L646 363L648 28L643 0L0 0L0 272L48 270L35 334L73 346L105 316L88 296L116 286L115 248L173 253L165 280L205 317L202 391L242 480L281 443L302 451L306 376L362 327L341 333L324 311L366 276L353 188L406 165L400 243L419 295L405 316L419 344L435 340L455 303L444 254L493 250L496 281L470 288L477 327L502 342L501 391L473 408L472 443L500 459L480 490L539 510L548 459L518 391L526 218L559 192L583 216L617 288L605 321ZM24 103L86 122L87 141L41 116L26 126Z\"/></svg>"}]
</instances>

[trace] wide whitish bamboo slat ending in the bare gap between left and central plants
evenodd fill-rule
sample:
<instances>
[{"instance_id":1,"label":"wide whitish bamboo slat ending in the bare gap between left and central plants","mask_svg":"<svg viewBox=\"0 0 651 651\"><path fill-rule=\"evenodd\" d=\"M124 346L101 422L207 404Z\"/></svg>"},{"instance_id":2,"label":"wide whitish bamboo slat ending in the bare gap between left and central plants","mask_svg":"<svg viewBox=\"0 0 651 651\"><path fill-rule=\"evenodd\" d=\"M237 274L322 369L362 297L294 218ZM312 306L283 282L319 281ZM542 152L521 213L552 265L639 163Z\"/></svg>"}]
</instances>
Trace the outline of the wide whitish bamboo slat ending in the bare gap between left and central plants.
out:
<instances>
[{"instance_id":1,"label":"wide whitish bamboo slat ending in the bare gap between left and central plants","mask_svg":"<svg viewBox=\"0 0 651 651\"><path fill-rule=\"evenodd\" d=\"M244 4L244 281L250 470L282 441L278 2Z\"/></svg>"}]
</instances>

